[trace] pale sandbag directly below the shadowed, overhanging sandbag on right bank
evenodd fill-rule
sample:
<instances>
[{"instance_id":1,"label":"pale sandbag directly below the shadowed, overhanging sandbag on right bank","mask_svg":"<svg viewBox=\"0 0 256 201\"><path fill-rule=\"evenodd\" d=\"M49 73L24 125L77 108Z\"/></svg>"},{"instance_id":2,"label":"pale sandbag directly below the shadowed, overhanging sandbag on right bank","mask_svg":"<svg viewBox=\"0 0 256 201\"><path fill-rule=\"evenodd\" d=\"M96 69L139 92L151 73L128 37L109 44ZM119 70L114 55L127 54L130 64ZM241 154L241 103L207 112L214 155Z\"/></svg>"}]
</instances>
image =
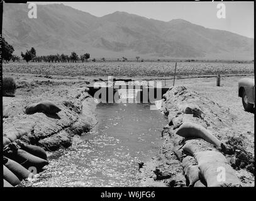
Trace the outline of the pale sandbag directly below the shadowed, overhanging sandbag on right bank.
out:
<instances>
[{"instance_id":1,"label":"pale sandbag directly below the shadowed, overhanging sandbag on right bank","mask_svg":"<svg viewBox=\"0 0 256 201\"><path fill-rule=\"evenodd\" d=\"M194 155L199 151L216 151L216 149L213 148L213 145L204 141L204 139L189 139L182 148L191 155Z\"/></svg>"}]
</instances>

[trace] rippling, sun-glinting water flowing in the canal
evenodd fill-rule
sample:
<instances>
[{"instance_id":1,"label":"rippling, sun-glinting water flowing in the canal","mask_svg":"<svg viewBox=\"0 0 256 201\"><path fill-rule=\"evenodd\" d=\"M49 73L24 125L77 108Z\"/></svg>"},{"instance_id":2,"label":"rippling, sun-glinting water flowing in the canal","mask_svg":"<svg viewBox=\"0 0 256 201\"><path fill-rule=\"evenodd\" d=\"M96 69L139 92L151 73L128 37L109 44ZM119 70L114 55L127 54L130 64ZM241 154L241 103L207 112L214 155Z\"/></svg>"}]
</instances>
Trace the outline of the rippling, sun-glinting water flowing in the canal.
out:
<instances>
[{"instance_id":1,"label":"rippling, sun-glinting water flowing in the canal","mask_svg":"<svg viewBox=\"0 0 256 201\"><path fill-rule=\"evenodd\" d=\"M138 163L157 155L167 120L149 104L103 104L97 125L67 149L49 156L33 187L135 187Z\"/></svg>"}]
</instances>

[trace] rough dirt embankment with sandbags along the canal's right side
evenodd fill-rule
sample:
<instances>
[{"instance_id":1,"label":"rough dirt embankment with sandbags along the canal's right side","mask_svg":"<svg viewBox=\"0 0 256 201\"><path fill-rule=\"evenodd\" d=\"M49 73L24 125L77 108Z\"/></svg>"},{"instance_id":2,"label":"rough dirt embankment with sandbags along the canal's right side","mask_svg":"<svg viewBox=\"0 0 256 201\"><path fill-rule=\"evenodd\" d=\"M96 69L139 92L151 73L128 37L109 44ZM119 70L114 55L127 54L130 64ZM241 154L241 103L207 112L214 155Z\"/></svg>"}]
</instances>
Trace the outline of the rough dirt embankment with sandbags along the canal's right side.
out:
<instances>
[{"instance_id":1,"label":"rough dirt embankment with sandbags along the canal's right side","mask_svg":"<svg viewBox=\"0 0 256 201\"><path fill-rule=\"evenodd\" d=\"M161 110L169 119L169 124L162 131L164 144L159 154L140 169L142 186L196 186L191 184L191 178L194 182L199 180L199 183L208 185L208 182L213 181L211 174L216 171L209 170L216 167L216 162L226 166L230 175L233 174L228 175L231 185L238 182L242 186L254 185L254 155L247 149L247 136L231 132L235 118L228 107L220 106L186 87L173 87L164 95ZM217 143L220 142L221 146L206 142L207 138L193 139L178 135L182 132L177 131L181 131L185 122L199 125L204 133L210 133L209 136ZM186 132L189 133L189 129ZM213 158L217 158L213 165L202 164L206 159L200 161L197 156L199 151L203 151L203 154L211 151ZM186 166L187 161L191 163L189 168ZM192 177L195 175L194 170L198 171L198 179Z\"/></svg>"}]
</instances>

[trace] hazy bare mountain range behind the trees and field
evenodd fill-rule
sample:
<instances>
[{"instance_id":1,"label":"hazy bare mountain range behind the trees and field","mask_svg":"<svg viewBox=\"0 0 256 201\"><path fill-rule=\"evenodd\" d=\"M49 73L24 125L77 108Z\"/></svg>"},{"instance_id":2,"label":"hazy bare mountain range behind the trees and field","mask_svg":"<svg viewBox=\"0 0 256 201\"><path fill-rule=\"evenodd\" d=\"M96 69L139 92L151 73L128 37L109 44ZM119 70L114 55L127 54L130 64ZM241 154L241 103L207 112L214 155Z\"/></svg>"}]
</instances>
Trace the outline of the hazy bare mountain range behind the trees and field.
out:
<instances>
[{"instance_id":1,"label":"hazy bare mountain range behind the trees and field","mask_svg":"<svg viewBox=\"0 0 256 201\"><path fill-rule=\"evenodd\" d=\"M4 4L3 36L20 56L31 46L37 55L72 51L91 58L201 58L253 60L254 39L213 30L184 19L159 21L116 11L102 17L65 6Z\"/></svg>"}]
</instances>

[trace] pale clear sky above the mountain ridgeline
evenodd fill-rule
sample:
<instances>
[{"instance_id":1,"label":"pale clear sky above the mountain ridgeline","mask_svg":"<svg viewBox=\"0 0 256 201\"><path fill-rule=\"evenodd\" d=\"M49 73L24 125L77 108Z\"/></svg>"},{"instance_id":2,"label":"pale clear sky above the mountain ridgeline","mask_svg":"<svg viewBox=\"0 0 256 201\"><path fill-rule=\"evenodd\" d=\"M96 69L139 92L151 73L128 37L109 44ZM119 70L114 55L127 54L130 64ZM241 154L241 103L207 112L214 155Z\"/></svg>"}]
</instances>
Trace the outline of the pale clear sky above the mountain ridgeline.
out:
<instances>
[{"instance_id":1,"label":"pale clear sky above the mountain ridgeline","mask_svg":"<svg viewBox=\"0 0 256 201\"><path fill-rule=\"evenodd\" d=\"M60 3L60 2L57 2ZM115 11L138 14L146 18L170 21L185 19L194 24L226 30L254 38L253 2L223 2L226 6L226 19L218 19L218 2L64 2L72 8L104 16ZM49 4L49 3L46 3ZM40 10L38 10L40 12Z\"/></svg>"}]
</instances>

